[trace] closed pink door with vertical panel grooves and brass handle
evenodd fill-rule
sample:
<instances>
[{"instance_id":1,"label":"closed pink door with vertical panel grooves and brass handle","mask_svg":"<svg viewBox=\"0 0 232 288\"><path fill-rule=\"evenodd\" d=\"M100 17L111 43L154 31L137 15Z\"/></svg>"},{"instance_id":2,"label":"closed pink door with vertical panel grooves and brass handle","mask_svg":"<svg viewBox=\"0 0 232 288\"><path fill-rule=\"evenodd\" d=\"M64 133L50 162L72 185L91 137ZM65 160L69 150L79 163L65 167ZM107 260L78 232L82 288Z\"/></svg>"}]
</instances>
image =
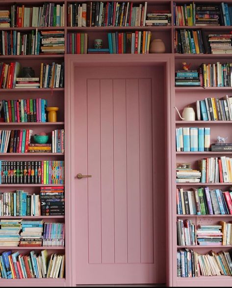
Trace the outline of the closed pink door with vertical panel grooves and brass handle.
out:
<instances>
[{"instance_id":1,"label":"closed pink door with vertical panel grooves and brass handle","mask_svg":"<svg viewBox=\"0 0 232 288\"><path fill-rule=\"evenodd\" d=\"M165 282L164 155L155 140L164 136L164 88L155 69L75 70L74 176L92 175L74 180L77 284Z\"/></svg>"}]
</instances>

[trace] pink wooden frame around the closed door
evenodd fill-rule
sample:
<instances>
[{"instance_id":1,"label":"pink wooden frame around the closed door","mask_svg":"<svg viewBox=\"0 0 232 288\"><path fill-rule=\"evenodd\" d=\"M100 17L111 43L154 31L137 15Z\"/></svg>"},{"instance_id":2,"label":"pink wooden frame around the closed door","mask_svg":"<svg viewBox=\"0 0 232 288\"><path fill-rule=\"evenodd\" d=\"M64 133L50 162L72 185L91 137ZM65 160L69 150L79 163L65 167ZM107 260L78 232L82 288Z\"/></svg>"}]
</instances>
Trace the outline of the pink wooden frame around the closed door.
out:
<instances>
[{"instance_id":1,"label":"pink wooden frame around the closed door","mask_svg":"<svg viewBox=\"0 0 232 288\"><path fill-rule=\"evenodd\" d=\"M161 64L164 67L164 73L166 77L166 104L165 111L165 134L166 134L166 284L171 286L170 281L173 278L171 263L173 263L174 253L170 247L172 247L172 213L173 211L173 199L169 197L172 191L172 181L169 179L168 167L172 167L171 158L171 145L170 143L170 126L171 126L171 95L175 93L174 90L174 76L172 75L171 67L174 67L174 56L170 54L147 54L147 55L134 55L134 54L122 54L122 55L65 55L65 246L66 246L66 283L65 286L76 286L78 279L78 272L76 275L76 230L75 230L75 187L74 177L77 171L74 170L75 161L73 159L72 151L75 148L74 142L74 83L75 83L75 68L76 67L97 67L97 66L155 66ZM172 282L172 281L171 281Z\"/></svg>"}]
</instances>

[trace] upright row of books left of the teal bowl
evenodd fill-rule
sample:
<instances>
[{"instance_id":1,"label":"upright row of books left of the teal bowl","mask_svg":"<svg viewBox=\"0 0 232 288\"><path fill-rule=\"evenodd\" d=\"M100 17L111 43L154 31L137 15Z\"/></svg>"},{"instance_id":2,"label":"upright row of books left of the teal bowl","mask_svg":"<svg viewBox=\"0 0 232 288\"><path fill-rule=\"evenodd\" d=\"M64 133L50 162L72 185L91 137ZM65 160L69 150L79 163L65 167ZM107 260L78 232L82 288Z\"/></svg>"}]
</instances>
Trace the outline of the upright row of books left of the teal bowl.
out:
<instances>
[{"instance_id":1,"label":"upright row of books left of the teal bowl","mask_svg":"<svg viewBox=\"0 0 232 288\"><path fill-rule=\"evenodd\" d=\"M27 153L33 130L0 130L0 153Z\"/></svg>"}]
</instances>

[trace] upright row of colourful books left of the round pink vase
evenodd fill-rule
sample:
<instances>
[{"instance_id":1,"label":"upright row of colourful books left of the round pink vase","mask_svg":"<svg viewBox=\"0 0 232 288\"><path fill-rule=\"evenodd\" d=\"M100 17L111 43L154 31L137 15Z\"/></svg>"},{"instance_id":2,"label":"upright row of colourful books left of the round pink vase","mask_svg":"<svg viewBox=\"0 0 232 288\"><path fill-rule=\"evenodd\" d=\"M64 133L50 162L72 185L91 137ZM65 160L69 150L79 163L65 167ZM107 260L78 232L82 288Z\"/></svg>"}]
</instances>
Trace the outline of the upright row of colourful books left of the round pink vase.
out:
<instances>
[{"instance_id":1,"label":"upright row of colourful books left of the round pink vase","mask_svg":"<svg viewBox=\"0 0 232 288\"><path fill-rule=\"evenodd\" d=\"M151 38L151 31L108 33L109 53L148 54Z\"/></svg>"}]
</instances>

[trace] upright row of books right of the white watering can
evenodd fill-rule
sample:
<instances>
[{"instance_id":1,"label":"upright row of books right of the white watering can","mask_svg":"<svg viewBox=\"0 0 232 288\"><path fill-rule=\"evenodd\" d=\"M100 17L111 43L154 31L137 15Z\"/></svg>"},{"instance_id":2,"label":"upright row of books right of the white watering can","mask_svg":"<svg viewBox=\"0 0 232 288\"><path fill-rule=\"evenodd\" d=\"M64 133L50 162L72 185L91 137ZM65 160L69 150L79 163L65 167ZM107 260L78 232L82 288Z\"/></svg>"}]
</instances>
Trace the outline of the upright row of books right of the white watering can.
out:
<instances>
[{"instance_id":1,"label":"upright row of books right of the white watering can","mask_svg":"<svg viewBox=\"0 0 232 288\"><path fill-rule=\"evenodd\" d=\"M230 121L232 120L232 96L221 98L208 97L196 101L197 120Z\"/></svg>"}]
</instances>

